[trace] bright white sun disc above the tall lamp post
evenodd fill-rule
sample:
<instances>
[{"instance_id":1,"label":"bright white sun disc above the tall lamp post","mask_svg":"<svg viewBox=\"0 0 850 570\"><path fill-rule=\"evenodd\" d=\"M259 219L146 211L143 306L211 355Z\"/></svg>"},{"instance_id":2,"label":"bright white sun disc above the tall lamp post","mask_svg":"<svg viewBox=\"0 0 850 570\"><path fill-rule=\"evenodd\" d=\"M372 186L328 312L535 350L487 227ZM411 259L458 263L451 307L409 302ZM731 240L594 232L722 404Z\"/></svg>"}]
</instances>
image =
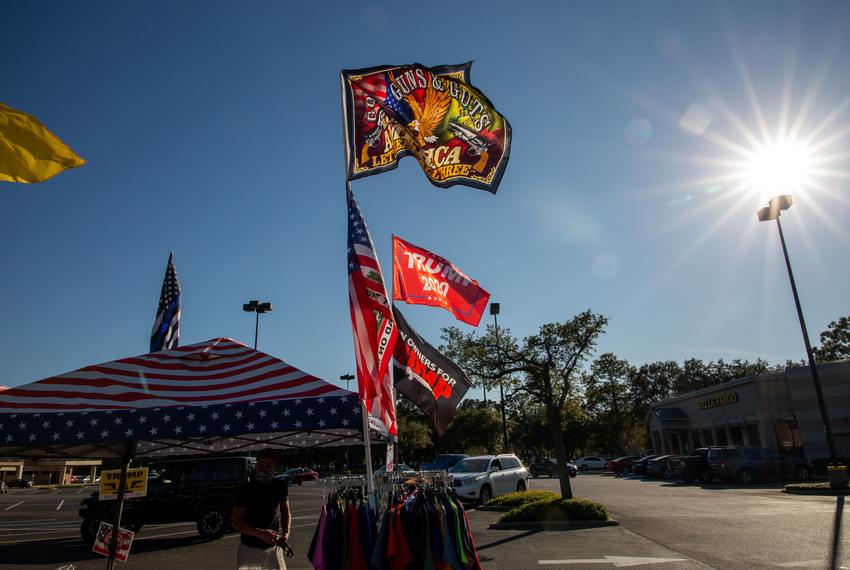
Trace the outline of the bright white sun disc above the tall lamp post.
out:
<instances>
[{"instance_id":1,"label":"bright white sun disc above the tall lamp post","mask_svg":"<svg viewBox=\"0 0 850 570\"><path fill-rule=\"evenodd\" d=\"M799 192L811 176L812 152L793 139L761 145L745 161L746 183L763 196Z\"/></svg>"}]
</instances>

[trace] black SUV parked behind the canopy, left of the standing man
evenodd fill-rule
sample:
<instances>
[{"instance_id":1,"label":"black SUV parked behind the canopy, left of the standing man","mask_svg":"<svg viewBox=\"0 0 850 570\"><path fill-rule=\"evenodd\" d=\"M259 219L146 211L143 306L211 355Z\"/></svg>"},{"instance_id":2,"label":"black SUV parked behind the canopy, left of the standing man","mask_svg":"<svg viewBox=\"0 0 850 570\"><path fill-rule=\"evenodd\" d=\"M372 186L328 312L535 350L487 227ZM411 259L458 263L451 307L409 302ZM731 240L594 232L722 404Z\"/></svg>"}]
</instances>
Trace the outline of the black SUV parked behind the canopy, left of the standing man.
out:
<instances>
[{"instance_id":1,"label":"black SUV parked behind the canopy, left of the standing man","mask_svg":"<svg viewBox=\"0 0 850 570\"><path fill-rule=\"evenodd\" d=\"M230 528L239 487L254 472L253 457L205 457L148 465L147 496L124 502L121 526L138 532L146 524L195 521L203 537ZM117 501L98 501L98 492L80 503L80 535L94 543L101 521L112 524Z\"/></svg>"}]
</instances>

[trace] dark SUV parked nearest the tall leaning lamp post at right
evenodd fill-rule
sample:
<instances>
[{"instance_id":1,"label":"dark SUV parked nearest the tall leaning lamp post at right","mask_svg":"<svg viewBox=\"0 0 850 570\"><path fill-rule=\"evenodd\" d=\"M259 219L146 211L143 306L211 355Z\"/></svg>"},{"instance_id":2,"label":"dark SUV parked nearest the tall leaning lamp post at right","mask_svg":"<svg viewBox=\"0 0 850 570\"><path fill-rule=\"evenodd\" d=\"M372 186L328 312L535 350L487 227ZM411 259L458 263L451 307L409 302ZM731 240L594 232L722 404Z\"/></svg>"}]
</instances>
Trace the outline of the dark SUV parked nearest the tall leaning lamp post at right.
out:
<instances>
[{"instance_id":1,"label":"dark SUV parked nearest the tall leaning lamp post at right","mask_svg":"<svg viewBox=\"0 0 850 570\"><path fill-rule=\"evenodd\" d=\"M745 485L757 480L812 478L812 464L806 459L780 455L765 447L712 447L708 465L712 477Z\"/></svg>"}]
</instances>

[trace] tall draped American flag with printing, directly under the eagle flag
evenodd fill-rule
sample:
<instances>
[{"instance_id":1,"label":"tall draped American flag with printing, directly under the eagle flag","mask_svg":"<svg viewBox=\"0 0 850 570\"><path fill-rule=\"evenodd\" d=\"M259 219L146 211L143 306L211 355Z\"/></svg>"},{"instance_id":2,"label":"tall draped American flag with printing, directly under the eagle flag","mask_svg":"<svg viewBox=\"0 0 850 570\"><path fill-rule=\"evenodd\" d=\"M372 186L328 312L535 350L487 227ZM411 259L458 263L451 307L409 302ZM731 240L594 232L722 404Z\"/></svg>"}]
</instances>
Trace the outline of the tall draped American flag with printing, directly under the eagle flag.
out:
<instances>
[{"instance_id":1,"label":"tall draped American flag with printing, directly under the eagle flag","mask_svg":"<svg viewBox=\"0 0 850 570\"><path fill-rule=\"evenodd\" d=\"M357 385L360 399L369 402L381 396L382 380L389 370L398 331L372 237L350 187L346 188L346 197L348 300L357 361Z\"/></svg>"}]
</instances>

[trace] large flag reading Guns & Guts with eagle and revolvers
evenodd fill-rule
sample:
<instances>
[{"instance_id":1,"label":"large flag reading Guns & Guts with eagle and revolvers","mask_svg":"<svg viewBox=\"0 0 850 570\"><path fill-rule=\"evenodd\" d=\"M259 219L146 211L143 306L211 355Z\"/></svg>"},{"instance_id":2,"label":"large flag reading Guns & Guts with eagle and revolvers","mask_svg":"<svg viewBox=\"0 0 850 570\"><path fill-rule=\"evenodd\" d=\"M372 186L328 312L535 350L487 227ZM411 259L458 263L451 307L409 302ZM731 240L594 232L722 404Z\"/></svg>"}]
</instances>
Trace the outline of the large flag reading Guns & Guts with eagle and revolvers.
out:
<instances>
[{"instance_id":1,"label":"large flag reading Guns & Guts with eagle and revolvers","mask_svg":"<svg viewBox=\"0 0 850 570\"><path fill-rule=\"evenodd\" d=\"M472 63L383 65L341 73L348 180L419 161L435 186L496 193L511 126L469 82Z\"/></svg>"}]
</instances>

